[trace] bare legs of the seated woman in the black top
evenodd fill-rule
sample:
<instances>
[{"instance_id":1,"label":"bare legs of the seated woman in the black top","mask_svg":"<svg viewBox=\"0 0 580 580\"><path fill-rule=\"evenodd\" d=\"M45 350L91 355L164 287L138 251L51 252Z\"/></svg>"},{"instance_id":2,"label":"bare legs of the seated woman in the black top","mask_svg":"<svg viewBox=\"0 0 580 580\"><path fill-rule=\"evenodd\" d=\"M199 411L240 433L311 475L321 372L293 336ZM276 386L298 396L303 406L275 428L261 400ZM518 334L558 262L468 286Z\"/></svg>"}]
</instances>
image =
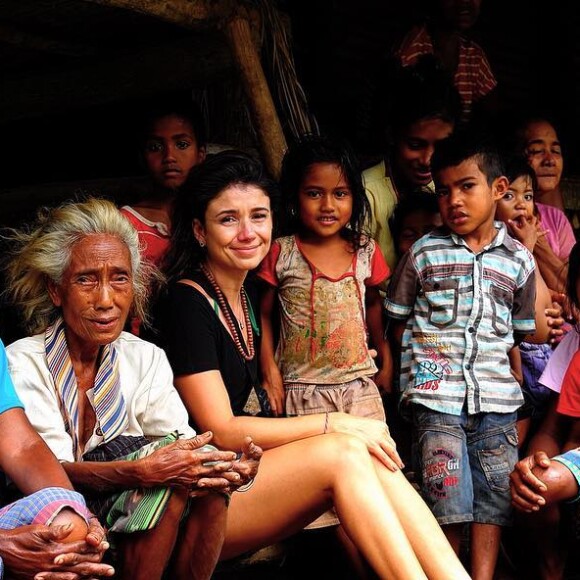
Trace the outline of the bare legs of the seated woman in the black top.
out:
<instances>
[{"instance_id":1,"label":"bare legs of the seated woman in the black top","mask_svg":"<svg viewBox=\"0 0 580 580\"><path fill-rule=\"evenodd\" d=\"M385 486L387 478L377 476L384 468L375 467L373 461L362 441L341 434L311 437L266 451L255 485L232 496L222 558L279 541L334 504L346 533L379 577L426 578L387 496L387 490L397 485ZM409 486L400 477L397 481ZM416 494L411 499L421 502ZM402 501L397 497L396 503ZM431 522L432 516L421 535L432 535ZM436 522L434 527L441 533ZM424 543L427 540L418 542ZM433 555L435 562L429 563L429 569L437 572L433 577L468 578L462 567L461 575L456 572L461 565L448 550L452 558L445 551L443 556Z\"/></svg>"}]
</instances>

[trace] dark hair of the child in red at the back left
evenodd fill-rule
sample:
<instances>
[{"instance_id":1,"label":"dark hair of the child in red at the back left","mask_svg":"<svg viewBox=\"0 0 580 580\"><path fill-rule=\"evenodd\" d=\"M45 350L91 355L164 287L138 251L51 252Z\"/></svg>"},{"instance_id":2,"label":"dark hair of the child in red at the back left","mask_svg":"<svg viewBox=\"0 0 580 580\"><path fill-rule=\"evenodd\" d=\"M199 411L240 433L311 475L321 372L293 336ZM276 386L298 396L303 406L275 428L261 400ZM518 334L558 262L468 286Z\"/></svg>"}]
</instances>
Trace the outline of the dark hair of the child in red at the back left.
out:
<instances>
[{"instance_id":1,"label":"dark hair of the child in red at the back left","mask_svg":"<svg viewBox=\"0 0 580 580\"><path fill-rule=\"evenodd\" d=\"M195 135L198 147L207 145L206 119L199 107L192 99L185 98L161 98L143 105L144 110L139 121L139 134L137 136L140 148L143 147L151 134L153 125L163 117L176 116L187 121Z\"/></svg>"}]
</instances>

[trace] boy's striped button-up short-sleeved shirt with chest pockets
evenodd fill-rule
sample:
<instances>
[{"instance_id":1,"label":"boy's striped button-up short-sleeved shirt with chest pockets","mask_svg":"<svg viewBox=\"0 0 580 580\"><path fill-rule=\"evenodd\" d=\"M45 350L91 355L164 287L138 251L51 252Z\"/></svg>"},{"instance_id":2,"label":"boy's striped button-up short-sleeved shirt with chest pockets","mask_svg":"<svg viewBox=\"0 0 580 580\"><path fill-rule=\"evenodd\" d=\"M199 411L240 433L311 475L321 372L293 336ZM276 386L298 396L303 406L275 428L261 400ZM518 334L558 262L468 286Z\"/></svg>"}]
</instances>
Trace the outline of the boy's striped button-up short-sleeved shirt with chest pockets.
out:
<instances>
[{"instance_id":1,"label":"boy's striped button-up short-sleeved shirt with chest pockets","mask_svg":"<svg viewBox=\"0 0 580 580\"><path fill-rule=\"evenodd\" d=\"M387 313L407 320L401 347L403 402L460 415L510 413L522 403L510 372L514 336L535 330L535 265L496 222L473 253L444 228L417 241L389 286Z\"/></svg>"}]
</instances>

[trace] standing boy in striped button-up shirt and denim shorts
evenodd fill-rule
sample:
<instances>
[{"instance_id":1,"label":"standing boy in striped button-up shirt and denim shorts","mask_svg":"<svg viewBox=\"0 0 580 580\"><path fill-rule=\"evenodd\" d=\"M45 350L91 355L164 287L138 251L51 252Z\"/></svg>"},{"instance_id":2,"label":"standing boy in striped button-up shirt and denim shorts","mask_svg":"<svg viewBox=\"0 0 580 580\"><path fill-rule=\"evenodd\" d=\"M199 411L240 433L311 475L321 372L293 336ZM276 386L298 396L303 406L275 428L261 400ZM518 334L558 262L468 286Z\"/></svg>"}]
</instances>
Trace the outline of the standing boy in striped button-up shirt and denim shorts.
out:
<instances>
[{"instance_id":1,"label":"standing boy in striped button-up shirt and denim shorts","mask_svg":"<svg viewBox=\"0 0 580 580\"><path fill-rule=\"evenodd\" d=\"M493 147L457 133L431 164L445 226L407 252L386 308L402 344L401 405L413 420L423 497L457 552L470 524L471 575L491 580L501 527L511 523L523 403L508 353L536 328L535 264L494 222L508 181Z\"/></svg>"}]
</instances>

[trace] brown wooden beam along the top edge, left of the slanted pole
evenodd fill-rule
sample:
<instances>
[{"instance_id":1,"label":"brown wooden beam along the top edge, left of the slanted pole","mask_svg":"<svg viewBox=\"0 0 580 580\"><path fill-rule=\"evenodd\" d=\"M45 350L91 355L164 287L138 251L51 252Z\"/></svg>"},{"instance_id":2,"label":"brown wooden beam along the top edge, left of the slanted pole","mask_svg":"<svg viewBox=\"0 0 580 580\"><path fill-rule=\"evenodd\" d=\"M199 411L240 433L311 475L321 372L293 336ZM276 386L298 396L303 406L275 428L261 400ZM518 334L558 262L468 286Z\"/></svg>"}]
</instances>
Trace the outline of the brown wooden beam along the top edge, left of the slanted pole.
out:
<instances>
[{"instance_id":1,"label":"brown wooden beam along the top edge, left of the slanted pole","mask_svg":"<svg viewBox=\"0 0 580 580\"><path fill-rule=\"evenodd\" d=\"M236 10L234 0L85 0L111 8L140 12L185 28L208 26Z\"/></svg>"}]
</instances>

